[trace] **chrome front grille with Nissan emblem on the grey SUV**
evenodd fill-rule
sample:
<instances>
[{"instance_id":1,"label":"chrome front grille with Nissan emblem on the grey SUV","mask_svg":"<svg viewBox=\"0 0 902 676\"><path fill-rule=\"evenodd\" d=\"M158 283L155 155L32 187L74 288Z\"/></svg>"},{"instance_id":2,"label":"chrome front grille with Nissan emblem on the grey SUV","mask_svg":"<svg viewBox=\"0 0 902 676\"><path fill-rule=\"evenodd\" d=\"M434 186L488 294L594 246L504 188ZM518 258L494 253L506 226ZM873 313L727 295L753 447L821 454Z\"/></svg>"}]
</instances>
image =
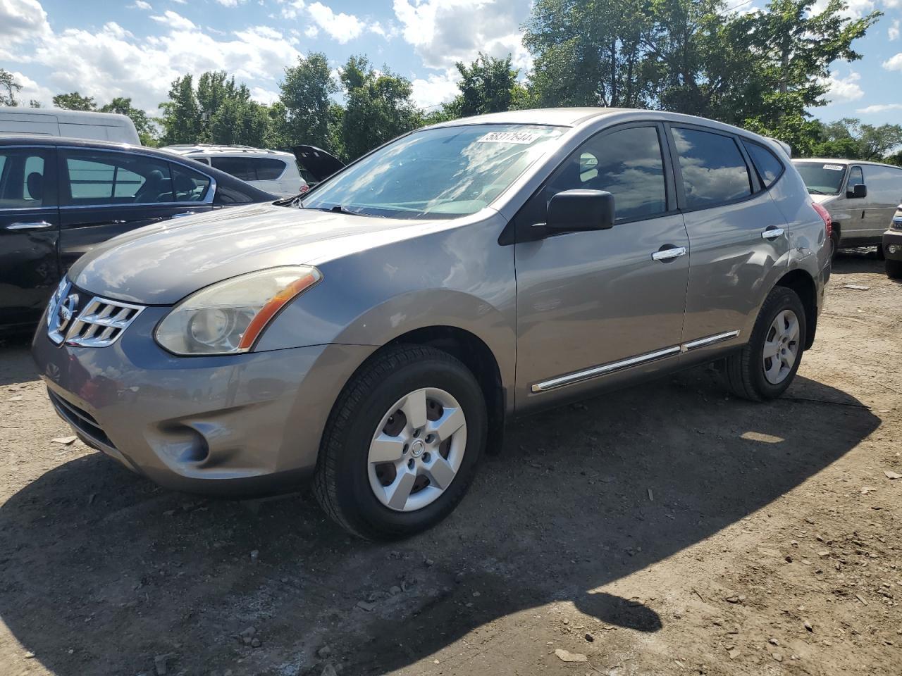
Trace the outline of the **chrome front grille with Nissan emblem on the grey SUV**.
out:
<instances>
[{"instance_id":1,"label":"chrome front grille with Nissan emblem on the grey SUV","mask_svg":"<svg viewBox=\"0 0 902 676\"><path fill-rule=\"evenodd\" d=\"M97 296L82 305L78 291L64 279L47 310L47 335L57 345L106 347L118 340L143 309Z\"/></svg>"}]
</instances>

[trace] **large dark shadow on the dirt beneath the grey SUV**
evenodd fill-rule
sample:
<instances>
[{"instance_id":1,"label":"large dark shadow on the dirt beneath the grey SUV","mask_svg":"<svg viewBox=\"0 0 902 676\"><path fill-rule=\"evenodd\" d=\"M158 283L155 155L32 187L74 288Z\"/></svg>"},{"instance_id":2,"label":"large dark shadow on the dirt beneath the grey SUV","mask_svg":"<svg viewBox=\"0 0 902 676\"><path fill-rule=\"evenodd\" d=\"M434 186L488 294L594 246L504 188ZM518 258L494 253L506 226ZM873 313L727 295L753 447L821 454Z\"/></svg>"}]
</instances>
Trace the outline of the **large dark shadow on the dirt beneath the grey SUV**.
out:
<instances>
[{"instance_id":1,"label":"large dark shadow on the dirt beneath the grey SUV","mask_svg":"<svg viewBox=\"0 0 902 676\"><path fill-rule=\"evenodd\" d=\"M452 516L396 544L349 538L306 492L193 498L91 454L0 507L0 618L60 676L151 673L161 654L170 673L318 675L323 644L345 674L384 674L554 602L654 632L654 590L599 588L766 507L879 425L822 383L789 394L750 404L695 369L524 419Z\"/></svg>"}]
</instances>

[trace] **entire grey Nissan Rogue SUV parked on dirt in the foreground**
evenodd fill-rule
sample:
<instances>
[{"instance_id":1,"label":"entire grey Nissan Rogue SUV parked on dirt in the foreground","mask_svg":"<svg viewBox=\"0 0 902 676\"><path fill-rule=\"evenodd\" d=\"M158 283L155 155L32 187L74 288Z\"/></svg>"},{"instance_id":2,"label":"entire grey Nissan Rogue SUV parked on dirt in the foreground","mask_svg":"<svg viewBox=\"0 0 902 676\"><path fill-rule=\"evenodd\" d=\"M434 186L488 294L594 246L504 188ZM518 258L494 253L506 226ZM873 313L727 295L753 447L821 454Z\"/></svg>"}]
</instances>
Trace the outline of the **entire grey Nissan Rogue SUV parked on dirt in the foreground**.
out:
<instances>
[{"instance_id":1,"label":"entire grey Nissan Rogue SUV parked on dirt in the foreground","mask_svg":"<svg viewBox=\"0 0 902 676\"><path fill-rule=\"evenodd\" d=\"M33 342L86 443L172 489L297 489L355 534L456 507L511 416L723 361L778 397L829 216L777 143L680 114L437 124L307 195L126 233Z\"/></svg>"}]
</instances>

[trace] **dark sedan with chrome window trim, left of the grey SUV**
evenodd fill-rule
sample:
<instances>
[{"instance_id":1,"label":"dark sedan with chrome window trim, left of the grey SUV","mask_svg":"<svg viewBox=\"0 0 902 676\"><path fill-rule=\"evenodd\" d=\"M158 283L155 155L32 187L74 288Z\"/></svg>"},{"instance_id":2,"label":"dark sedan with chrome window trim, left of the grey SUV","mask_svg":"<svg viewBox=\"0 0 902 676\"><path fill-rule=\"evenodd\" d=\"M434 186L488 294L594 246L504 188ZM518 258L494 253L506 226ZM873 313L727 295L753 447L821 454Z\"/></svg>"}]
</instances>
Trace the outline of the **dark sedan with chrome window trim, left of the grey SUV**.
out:
<instances>
[{"instance_id":1,"label":"dark sedan with chrome window trim, left of the grey SUV","mask_svg":"<svg viewBox=\"0 0 902 676\"><path fill-rule=\"evenodd\" d=\"M0 137L0 329L36 324L61 276L100 242L176 216L274 199L169 152Z\"/></svg>"}]
</instances>

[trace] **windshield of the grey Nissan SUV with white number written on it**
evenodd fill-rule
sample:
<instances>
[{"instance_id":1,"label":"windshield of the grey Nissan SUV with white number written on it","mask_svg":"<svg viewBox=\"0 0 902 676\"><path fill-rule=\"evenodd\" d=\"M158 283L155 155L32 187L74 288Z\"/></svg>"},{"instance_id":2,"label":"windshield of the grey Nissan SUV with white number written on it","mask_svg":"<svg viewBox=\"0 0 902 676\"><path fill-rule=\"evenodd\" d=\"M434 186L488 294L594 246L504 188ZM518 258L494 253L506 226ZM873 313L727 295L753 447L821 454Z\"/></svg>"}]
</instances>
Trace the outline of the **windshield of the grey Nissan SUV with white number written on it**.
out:
<instances>
[{"instance_id":1,"label":"windshield of the grey Nissan SUV with white number written on it","mask_svg":"<svg viewBox=\"0 0 902 676\"><path fill-rule=\"evenodd\" d=\"M564 132L534 124L414 132L328 179L302 206L392 218L475 214Z\"/></svg>"}]
</instances>

